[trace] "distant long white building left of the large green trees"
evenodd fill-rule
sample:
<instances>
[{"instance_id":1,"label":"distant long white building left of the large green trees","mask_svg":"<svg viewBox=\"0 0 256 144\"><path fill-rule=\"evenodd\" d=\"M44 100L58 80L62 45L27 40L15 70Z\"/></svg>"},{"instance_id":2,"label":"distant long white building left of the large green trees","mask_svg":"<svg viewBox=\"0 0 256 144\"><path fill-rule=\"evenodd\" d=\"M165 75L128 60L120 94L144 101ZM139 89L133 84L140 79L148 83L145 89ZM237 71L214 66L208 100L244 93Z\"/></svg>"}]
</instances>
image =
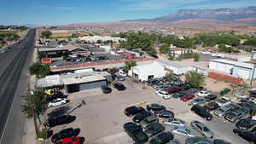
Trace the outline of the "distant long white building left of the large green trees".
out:
<instances>
[{"instance_id":1,"label":"distant long white building left of the large green trees","mask_svg":"<svg viewBox=\"0 0 256 144\"><path fill-rule=\"evenodd\" d=\"M125 41L125 38L121 37L109 37L109 36L86 36L86 37L81 37L81 41L87 41L87 42L96 42L98 40L101 40L102 42L112 40L113 42L119 42L119 41Z\"/></svg>"}]
</instances>

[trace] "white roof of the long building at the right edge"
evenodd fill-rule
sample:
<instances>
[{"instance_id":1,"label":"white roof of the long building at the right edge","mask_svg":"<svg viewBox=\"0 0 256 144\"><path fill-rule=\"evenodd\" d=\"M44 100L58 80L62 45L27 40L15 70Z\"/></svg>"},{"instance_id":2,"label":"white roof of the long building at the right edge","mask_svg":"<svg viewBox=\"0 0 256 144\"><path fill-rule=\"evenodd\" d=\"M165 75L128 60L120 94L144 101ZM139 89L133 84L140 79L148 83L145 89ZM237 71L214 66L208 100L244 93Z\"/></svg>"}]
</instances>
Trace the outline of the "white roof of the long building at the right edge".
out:
<instances>
[{"instance_id":1,"label":"white roof of the long building at the right edge","mask_svg":"<svg viewBox=\"0 0 256 144\"><path fill-rule=\"evenodd\" d=\"M253 64L248 64L248 63L245 63L245 62L234 61L234 60L212 59L211 61L220 62L220 63L224 63L224 64L230 64L230 65L233 65L233 66L250 68L250 69L253 69L253 66L254 66Z\"/></svg>"}]
</instances>

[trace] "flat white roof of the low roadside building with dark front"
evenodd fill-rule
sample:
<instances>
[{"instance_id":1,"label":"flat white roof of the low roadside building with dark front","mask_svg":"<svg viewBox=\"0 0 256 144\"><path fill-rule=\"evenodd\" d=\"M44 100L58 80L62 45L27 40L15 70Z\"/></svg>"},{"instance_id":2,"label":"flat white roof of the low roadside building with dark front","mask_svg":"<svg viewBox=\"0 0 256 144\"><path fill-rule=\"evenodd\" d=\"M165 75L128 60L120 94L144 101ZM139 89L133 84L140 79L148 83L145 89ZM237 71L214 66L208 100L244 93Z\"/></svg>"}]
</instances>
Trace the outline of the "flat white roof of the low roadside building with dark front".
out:
<instances>
[{"instance_id":1,"label":"flat white roof of the low roadside building with dark front","mask_svg":"<svg viewBox=\"0 0 256 144\"><path fill-rule=\"evenodd\" d=\"M102 75L93 75L93 76L87 76L87 77L75 77L75 78L65 78L63 79L64 85L69 84L83 84L83 83L90 83L95 81L101 81L105 80Z\"/></svg>"}]
</instances>

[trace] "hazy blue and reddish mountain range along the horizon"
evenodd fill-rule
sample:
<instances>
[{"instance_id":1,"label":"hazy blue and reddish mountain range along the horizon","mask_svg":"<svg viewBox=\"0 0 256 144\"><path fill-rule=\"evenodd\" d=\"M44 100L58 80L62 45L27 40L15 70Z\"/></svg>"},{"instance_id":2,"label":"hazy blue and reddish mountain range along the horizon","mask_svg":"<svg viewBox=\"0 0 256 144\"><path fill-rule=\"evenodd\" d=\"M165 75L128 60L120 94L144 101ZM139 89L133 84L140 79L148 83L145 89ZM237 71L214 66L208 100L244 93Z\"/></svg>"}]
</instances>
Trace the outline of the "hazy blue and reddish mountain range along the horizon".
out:
<instances>
[{"instance_id":1,"label":"hazy blue and reddish mountain range along the horizon","mask_svg":"<svg viewBox=\"0 0 256 144\"><path fill-rule=\"evenodd\" d=\"M176 13L153 19L119 22L79 23L66 26L90 27L233 27L256 26L256 7L243 9L180 9Z\"/></svg>"}]
</instances>

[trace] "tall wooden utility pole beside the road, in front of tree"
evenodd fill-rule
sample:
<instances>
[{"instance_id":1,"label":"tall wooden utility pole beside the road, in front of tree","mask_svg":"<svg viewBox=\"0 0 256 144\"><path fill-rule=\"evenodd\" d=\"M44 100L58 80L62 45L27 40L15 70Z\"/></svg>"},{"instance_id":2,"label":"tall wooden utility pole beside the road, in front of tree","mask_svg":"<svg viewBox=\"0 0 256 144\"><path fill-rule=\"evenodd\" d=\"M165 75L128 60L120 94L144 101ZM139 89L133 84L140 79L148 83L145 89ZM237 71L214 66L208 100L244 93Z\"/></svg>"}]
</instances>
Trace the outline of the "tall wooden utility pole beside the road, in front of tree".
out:
<instances>
[{"instance_id":1,"label":"tall wooden utility pole beside the road, in front of tree","mask_svg":"<svg viewBox=\"0 0 256 144\"><path fill-rule=\"evenodd\" d=\"M34 107L34 104L33 104L33 101L32 101L33 92L30 91L30 84L29 84L29 82L27 83L27 85L28 85L28 88L27 88L28 102L29 102L29 106L30 106L31 112L32 112L32 118L33 118L33 121L34 121L36 135L38 136L40 130L38 129L38 119L37 119L36 112L35 112L35 107Z\"/></svg>"}]
</instances>

